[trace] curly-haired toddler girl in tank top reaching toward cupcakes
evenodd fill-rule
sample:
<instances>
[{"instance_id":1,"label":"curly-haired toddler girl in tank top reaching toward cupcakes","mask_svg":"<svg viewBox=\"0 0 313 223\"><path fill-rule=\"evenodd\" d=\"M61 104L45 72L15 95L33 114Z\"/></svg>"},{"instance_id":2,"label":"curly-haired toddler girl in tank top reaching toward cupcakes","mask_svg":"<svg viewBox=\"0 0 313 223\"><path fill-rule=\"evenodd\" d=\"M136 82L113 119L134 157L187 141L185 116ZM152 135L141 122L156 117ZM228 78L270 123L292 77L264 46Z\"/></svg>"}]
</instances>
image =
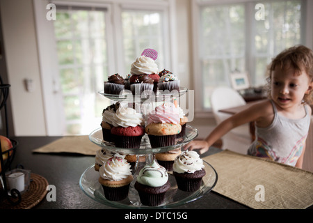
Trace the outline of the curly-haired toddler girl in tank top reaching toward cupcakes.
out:
<instances>
[{"instance_id":1,"label":"curly-haired toddler girl in tank top reaching toward cupcakes","mask_svg":"<svg viewBox=\"0 0 313 223\"><path fill-rule=\"evenodd\" d=\"M268 82L268 100L227 118L206 139L191 141L184 149L204 153L233 128L255 121L256 139L248 154L302 168L312 112L307 105L312 102L312 50L299 45L278 54Z\"/></svg>"}]
</instances>

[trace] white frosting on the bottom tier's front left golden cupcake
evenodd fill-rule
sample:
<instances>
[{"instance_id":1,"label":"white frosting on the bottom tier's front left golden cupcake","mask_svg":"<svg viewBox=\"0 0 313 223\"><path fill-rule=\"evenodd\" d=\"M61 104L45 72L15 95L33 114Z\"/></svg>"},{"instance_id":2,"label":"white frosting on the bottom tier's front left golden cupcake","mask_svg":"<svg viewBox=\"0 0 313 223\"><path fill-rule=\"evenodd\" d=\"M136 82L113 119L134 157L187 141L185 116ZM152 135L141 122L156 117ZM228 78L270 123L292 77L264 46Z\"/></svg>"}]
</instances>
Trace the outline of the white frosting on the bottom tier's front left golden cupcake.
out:
<instances>
[{"instance_id":1,"label":"white frosting on the bottom tier's front left golden cupcake","mask_svg":"<svg viewBox=\"0 0 313 223\"><path fill-rule=\"evenodd\" d=\"M122 157L111 157L100 167L99 174L104 180L122 180L131 175L131 165Z\"/></svg>"}]
</instances>

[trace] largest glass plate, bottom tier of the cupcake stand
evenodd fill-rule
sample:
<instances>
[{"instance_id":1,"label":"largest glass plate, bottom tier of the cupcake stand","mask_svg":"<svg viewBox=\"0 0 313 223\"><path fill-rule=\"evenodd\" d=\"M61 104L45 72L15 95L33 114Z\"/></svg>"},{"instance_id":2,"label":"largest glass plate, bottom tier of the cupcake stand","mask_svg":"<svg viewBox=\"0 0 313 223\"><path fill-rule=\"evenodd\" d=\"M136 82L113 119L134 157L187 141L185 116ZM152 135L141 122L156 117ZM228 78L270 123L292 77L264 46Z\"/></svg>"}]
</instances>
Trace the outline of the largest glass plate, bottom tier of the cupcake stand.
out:
<instances>
[{"instance_id":1,"label":"largest glass plate, bottom tier of the cupcake stand","mask_svg":"<svg viewBox=\"0 0 313 223\"><path fill-rule=\"evenodd\" d=\"M122 201L109 201L104 197L104 192L102 185L99 183L99 172L95 171L94 164L86 171L83 172L79 180L79 185L81 190L95 201L103 203L107 206L115 208L174 208L175 206L181 206L184 203L189 203L200 199L204 194L210 192L212 188L216 185L218 180L218 175L213 167L205 161L203 161L204 169L206 171L205 176L202 178L202 183L200 189L195 192L184 192L177 188L177 183L175 177L171 172L168 173L170 180L170 189L166 192L166 198L163 203L157 207L144 206L141 204L138 192L134 189L133 180L129 187L129 196ZM135 178L136 179L136 178Z\"/></svg>"}]
</instances>

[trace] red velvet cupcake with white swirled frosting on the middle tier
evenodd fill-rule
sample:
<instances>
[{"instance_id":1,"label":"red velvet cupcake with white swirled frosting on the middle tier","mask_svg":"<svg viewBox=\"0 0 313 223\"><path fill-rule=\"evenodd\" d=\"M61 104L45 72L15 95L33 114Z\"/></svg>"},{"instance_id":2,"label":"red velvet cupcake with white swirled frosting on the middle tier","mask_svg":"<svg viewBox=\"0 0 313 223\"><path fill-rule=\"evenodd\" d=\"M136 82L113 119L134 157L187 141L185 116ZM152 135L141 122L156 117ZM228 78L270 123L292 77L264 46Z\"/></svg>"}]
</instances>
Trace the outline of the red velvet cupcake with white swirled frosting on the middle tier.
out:
<instances>
[{"instance_id":1,"label":"red velvet cupcake with white swirled frosting on the middle tier","mask_svg":"<svg viewBox=\"0 0 313 223\"><path fill-rule=\"evenodd\" d=\"M119 107L113 116L111 134L115 146L120 148L139 148L145 134L143 114L131 107Z\"/></svg>"}]
</instances>

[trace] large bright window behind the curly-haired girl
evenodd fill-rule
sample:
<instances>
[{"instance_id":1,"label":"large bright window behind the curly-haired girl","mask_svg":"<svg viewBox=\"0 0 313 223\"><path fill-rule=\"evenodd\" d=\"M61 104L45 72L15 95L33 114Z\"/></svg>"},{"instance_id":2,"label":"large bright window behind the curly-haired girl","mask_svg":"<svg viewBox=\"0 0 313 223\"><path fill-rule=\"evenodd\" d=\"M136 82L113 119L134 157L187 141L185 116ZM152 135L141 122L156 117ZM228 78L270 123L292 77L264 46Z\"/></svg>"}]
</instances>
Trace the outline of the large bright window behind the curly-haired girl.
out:
<instances>
[{"instance_id":1,"label":"large bright window behind the curly-haired girl","mask_svg":"<svg viewBox=\"0 0 313 223\"><path fill-rule=\"evenodd\" d=\"M195 6L195 73L200 73L196 84L202 86L198 110L210 109L215 86L231 86L232 71L248 72L250 84L262 86L271 59L287 47L304 44L304 1L220 2L198 1Z\"/></svg>"}]
</instances>

